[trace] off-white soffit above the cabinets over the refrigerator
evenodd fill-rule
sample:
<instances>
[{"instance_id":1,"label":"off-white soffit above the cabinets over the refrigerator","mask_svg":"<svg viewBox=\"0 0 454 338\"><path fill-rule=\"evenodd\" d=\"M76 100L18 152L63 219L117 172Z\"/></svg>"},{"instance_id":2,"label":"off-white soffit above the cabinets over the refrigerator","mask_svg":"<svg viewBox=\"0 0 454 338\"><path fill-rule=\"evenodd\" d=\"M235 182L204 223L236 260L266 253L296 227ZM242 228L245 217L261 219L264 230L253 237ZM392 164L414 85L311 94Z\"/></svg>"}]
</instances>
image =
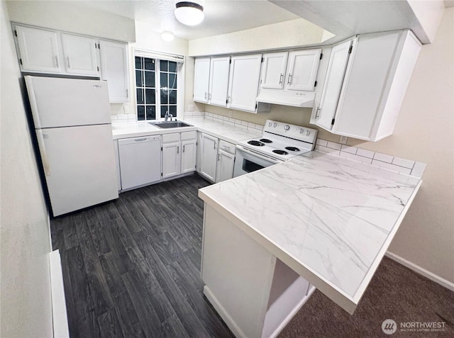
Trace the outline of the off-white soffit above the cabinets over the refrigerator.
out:
<instances>
[{"instance_id":1,"label":"off-white soffit above the cabinets over the refrigerator","mask_svg":"<svg viewBox=\"0 0 454 338\"><path fill-rule=\"evenodd\" d=\"M87 10L70 1L6 1L6 4L11 21L98 38L135 41L135 25L130 18Z\"/></svg>"}]
</instances>

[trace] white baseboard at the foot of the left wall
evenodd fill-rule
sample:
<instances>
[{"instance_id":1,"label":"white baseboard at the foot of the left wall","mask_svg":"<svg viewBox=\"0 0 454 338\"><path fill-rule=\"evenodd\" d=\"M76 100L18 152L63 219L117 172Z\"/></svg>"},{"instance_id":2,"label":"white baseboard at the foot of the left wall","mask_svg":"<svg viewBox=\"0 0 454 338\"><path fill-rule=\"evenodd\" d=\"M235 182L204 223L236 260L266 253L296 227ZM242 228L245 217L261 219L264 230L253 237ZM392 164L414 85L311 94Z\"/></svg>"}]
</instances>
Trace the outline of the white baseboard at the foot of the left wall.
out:
<instances>
[{"instance_id":1,"label":"white baseboard at the foot of the left wall","mask_svg":"<svg viewBox=\"0 0 454 338\"><path fill-rule=\"evenodd\" d=\"M49 264L54 338L70 338L70 329L68 327L66 312L65 288L63 287L62 261L60 260L60 251L55 250L50 252Z\"/></svg>"}]
</instances>

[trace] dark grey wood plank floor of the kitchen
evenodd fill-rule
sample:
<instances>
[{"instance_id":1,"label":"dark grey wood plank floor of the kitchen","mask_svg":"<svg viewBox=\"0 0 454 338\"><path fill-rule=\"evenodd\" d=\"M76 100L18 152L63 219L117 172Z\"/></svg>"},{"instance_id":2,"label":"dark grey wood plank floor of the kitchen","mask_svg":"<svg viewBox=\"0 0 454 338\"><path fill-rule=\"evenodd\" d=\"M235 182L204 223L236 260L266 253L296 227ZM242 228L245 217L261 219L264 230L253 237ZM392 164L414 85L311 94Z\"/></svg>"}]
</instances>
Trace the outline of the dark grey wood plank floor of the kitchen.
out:
<instances>
[{"instance_id":1,"label":"dark grey wood plank floor of the kitchen","mask_svg":"<svg viewBox=\"0 0 454 338\"><path fill-rule=\"evenodd\" d=\"M202 293L207 185L187 176L50 222L72 338L233 337Z\"/></svg>"}]
</instances>

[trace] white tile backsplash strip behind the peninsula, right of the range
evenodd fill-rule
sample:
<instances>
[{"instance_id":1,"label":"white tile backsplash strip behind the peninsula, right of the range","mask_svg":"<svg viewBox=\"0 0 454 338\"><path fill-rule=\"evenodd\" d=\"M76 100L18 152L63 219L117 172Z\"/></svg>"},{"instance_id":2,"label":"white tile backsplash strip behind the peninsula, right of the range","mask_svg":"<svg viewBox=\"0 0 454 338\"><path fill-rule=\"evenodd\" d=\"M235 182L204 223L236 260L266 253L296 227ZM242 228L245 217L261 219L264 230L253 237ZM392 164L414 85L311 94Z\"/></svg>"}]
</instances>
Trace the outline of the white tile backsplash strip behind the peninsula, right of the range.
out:
<instances>
[{"instance_id":1,"label":"white tile backsplash strip behind the peninsula, right of the range","mask_svg":"<svg viewBox=\"0 0 454 338\"><path fill-rule=\"evenodd\" d=\"M399 174L407 174L416 176L419 179L423 176L426 169L426 164L422 162L415 162L411 159L402 159L380 152L372 152L357 147L350 147L340 143L331 142L327 140L318 139L315 149L319 152L326 152L328 154L338 155L354 161L372 164L375 167L380 167L392 171L397 171Z\"/></svg>"}]
</instances>

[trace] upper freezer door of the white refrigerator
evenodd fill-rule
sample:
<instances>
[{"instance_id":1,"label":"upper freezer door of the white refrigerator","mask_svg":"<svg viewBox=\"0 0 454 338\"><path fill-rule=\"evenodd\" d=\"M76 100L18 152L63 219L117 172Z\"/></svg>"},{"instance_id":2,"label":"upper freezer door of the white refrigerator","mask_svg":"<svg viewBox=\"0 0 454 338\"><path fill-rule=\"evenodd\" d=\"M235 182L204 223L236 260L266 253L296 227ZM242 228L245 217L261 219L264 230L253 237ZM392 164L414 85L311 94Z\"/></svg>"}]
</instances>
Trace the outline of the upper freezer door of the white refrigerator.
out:
<instances>
[{"instance_id":1,"label":"upper freezer door of the white refrigerator","mask_svg":"<svg viewBox=\"0 0 454 338\"><path fill-rule=\"evenodd\" d=\"M25 78L35 128L111 123L106 81Z\"/></svg>"}]
</instances>

